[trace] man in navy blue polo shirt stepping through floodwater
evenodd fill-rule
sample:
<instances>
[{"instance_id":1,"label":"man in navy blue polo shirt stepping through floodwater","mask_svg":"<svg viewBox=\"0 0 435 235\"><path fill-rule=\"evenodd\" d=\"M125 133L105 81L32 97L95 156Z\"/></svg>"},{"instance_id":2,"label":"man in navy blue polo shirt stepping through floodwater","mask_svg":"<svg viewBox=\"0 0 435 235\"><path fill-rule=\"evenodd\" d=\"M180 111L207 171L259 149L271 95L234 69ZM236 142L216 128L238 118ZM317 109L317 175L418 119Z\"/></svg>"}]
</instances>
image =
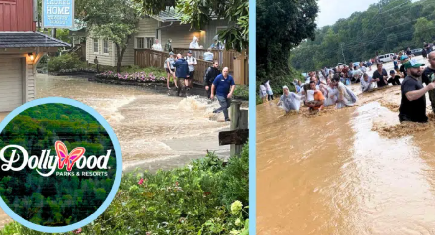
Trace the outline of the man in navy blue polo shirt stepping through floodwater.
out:
<instances>
[{"instance_id":1,"label":"man in navy blue polo shirt stepping through floodwater","mask_svg":"<svg viewBox=\"0 0 435 235\"><path fill-rule=\"evenodd\" d=\"M233 96L235 88L236 85L234 84L233 77L228 75L228 68L224 67L222 74L218 75L215 80L213 80L210 99L213 100L213 94L216 90L216 97L219 101L220 108L214 110L213 113L220 113L223 111L226 122L230 121L230 118L228 117L228 108L231 105L231 97Z\"/></svg>"}]
</instances>

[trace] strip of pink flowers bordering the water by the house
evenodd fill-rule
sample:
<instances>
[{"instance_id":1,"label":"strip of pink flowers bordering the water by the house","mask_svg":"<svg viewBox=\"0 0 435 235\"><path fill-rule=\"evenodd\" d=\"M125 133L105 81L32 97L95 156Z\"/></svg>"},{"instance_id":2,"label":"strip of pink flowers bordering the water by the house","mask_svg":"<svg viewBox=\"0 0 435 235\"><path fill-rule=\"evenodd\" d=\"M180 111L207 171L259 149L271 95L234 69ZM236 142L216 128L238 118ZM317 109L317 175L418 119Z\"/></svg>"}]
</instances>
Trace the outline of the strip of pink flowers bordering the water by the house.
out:
<instances>
[{"instance_id":1,"label":"strip of pink flowers bordering the water by the house","mask_svg":"<svg viewBox=\"0 0 435 235\"><path fill-rule=\"evenodd\" d=\"M107 71L95 75L97 79L108 79L108 80L121 80L121 81L131 81L138 83L166 83L165 77L157 77L153 73L145 72L134 72L134 73L115 73L112 71Z\"/></svg>"}]
</instances>

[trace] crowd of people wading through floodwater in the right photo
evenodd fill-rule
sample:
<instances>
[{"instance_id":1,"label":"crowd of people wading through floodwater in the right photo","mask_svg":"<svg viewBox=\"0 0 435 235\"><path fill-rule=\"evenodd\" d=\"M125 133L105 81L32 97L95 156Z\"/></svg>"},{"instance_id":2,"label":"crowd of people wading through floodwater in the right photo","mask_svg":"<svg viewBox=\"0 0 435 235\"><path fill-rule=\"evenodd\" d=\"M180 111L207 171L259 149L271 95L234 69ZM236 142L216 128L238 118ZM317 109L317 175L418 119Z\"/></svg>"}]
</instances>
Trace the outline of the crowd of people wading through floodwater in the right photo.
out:
<instances>
[{"instance_id":1,"label":"crowd of people wading through floodwater in the right photo","mask_svg":"<svg viewBox=\"0 0 435 235\"><path fill-rule=\"evenodd\" d=\"M299 111L301 104L310 112L321 111L324 107L333 106L337 109L354 106L357 96L348 88L350 82L360 83L361 91L368 92L377 87L400 85L401 102L399 121L427 122L426 96L429 94L432 111L435 113L435 51L433 45L424 43L423 50L427 52L429 65L419 63L409 48L399 52L391 59L394 69L387 72L380 61L367 61L359 65L339 65L335 68L324 68L310 72L306 81L294 81L296 92L290 92L288 86L283 86L283 95L278 105L286 112ZM408 52L409 51L409 52ZM366 71L371 70L371 63L376 64L373 76ZM352 66L353 65L353 66ZM400 66L399 66L400 65ZM358 71L359 70L359 71ZM266 101L270 81L260 86L260 96Z\"/></svg>"}]
</instances>

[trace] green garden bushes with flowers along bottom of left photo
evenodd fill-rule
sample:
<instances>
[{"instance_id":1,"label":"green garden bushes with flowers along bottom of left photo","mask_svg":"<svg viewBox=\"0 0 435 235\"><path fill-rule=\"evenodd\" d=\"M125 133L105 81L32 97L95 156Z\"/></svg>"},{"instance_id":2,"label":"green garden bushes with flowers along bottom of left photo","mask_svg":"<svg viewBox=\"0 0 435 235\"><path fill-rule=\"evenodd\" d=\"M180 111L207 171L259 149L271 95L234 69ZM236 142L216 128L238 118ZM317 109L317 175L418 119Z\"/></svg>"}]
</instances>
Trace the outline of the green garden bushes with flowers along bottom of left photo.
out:
<instances>
[{"instance_id":1,"label":"green garden bushes with flowers along bottom of left photo","mask_svg":"<svg viewBox=\"0 0 435 235\"><path fill-rule=\"evenodd\" d=\"M226 166L208 153L183 168L124 175L115 200L81 234L247 235L248 151L246 144ZM0 231L14 233L43 234L17 223Z\"/></svg>"}]
</instances>

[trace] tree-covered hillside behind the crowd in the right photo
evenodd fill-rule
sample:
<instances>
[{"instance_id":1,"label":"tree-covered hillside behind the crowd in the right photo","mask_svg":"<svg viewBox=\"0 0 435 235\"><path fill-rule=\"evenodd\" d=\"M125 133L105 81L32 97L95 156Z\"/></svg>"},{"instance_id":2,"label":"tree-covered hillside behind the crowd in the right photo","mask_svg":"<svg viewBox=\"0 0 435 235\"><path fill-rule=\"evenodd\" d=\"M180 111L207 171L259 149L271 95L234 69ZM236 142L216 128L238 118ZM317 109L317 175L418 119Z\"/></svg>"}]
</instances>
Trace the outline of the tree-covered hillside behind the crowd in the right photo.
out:
<instances>
[{"instance_id":1,"label":"tree-covered hillside behind the crowd in the right photo","mask_svg":"<svg viewBox=\"0 0 435 235\"><path fill-rule=\"evenodd\" d=\"M338 13L339 14L339 13ZM312 71L337 63L358 62L435 39L435 0L380 0L364 12L315 31L315 39L291 51L291 65Z\"/></svg>"}]
</instances>

